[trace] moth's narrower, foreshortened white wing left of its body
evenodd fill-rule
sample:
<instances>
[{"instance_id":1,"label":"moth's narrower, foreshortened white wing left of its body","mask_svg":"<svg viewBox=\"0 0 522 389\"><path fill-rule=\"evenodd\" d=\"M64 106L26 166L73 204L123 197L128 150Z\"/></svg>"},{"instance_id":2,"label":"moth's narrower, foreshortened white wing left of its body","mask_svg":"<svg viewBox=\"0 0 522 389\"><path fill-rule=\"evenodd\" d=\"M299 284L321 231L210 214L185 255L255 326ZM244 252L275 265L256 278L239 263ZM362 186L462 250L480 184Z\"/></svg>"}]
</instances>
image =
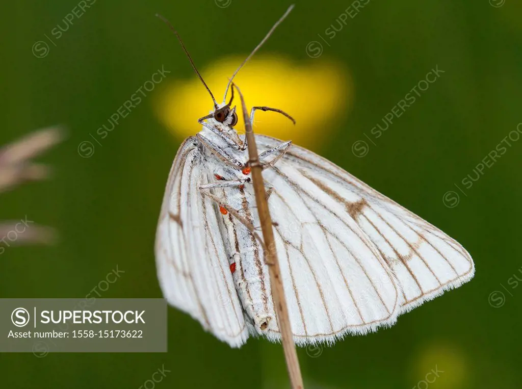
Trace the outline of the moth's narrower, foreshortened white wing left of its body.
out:
<instances>
[{"instance_id":1,"label":"moth's narrower, foreshortened white wing left of its body","mask_svg":"<svg viewBox=\"0 0 522 389\"><path fill-rule=\"evenodd\" d=\"M158 278L170 304L238 347L248 331L215 204L199 191L209 181L200 147L194 137L185 140L169 174L156 235Z\"/></svg>"}]
</instances>

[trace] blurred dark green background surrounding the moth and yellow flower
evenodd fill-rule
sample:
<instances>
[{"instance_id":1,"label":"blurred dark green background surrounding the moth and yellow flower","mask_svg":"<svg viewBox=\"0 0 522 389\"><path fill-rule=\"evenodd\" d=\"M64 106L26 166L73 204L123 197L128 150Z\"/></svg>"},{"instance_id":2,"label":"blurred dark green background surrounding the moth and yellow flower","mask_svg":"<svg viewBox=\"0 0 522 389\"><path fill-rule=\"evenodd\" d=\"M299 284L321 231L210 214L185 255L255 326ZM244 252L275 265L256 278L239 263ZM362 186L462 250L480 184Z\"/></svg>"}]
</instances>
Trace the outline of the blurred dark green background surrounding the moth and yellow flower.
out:
<instances>
[{"instance_id":1,"label":"blurred dark green background surrounding the moth and yellow flower","mask_svg":"<svg viewBox=\"0 0 522 389\"><path fill-rule=\"evenodd\" d=\"M50 180L0 196L0 220L28 215L60 233L54 246L17 247L0 256L0 297L84 298L116 266L125 274L103 298L161 297L153 241L182 139L154 114L152 95L160 88L95 145L90 158L79 156L78 145L161 64L172 80L195 77L155 13L179 29L203 68L223 55L250 52L289 5L229 3L98 0L58 40L51 30L64 26L77 2L2 5L0 144L55 124L67 128L67 138L40 159L53 167ZM443 372L427 384L431 389L520 387L522 286L508 282L515 274L522 279L522 140L510 141L469 189L461 181L468 174L476 178L477 165L522 122L522 3L370 1L329 40L325 30L331 24L339 29L336 19L350 4L296 1L262 51L303 66L325 58L345 66L354 88L349 114L312 148L462 243L476 276L399 317L390 329L347 337L334 347L299 349L306 387L424 388L432 369ZM33 44L49 42L44 34L56 46L38 57L42 52L34 55ZM320 58L307 55L311 41L323 44ZM445 73L383 136L372 137L373 145L364 134L371 136L437 64ZM358 140L369 146L364 158L351 151ZM459 195L458 204L448 191ZM443 196L456 206L445 206ZM495 291L505 299L497 293L491 300ZM168 353L2 353L0 386L138 388L164 366L171 372L158 388L288 387L282 350L266 340L230 349L170 308L168 341Z\"/></svg>"}]
</instances>

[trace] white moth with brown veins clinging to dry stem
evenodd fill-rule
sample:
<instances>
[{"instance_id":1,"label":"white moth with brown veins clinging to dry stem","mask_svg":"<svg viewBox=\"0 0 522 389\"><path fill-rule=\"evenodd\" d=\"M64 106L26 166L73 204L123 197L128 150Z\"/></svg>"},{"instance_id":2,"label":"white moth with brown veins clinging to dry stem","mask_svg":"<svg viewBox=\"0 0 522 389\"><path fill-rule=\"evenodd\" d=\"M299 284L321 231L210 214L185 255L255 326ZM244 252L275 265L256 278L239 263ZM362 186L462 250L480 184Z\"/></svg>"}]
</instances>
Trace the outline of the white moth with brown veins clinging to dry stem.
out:
<instances>
[{"instance_id":1,"label":"white moth with brown veins clinging to dry stem","mask_svg":"<svg viewBox=\"0 0 522 389\"><path fill-rule=\"evenodd\" d=\"M248 153L234 129L233 88L228 104L227 91L221 104L210 93L214 109L199 120L203 129L177 151L156 262L167 301L240 347L249 335L279 341L280 333ZM254 107L251 122L256 109L274 110ZM473 277L468 252L430 223L312 151L255 139L296 344L333 344L391 326L401 313Z\"/></svg>"}]
</instances>

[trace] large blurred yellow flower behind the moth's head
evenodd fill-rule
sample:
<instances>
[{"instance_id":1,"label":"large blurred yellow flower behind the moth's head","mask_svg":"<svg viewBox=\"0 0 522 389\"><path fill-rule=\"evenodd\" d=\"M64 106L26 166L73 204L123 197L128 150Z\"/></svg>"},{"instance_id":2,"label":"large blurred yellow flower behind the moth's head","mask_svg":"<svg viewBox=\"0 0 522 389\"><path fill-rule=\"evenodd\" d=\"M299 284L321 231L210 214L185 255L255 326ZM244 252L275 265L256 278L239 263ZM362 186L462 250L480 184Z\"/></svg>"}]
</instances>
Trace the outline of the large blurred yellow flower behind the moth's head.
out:
<instances>
[{"instance_id":1,"label":"large blurred yellow flower behind the moth's head","mask_svg":"<svg viewBox=\"0 0 522 389\"><path fill-rule=\"evenodd\" d=\"M218 103L223 100L228 78L245 57L225 57L208 68L199 69ZM287 112L296 120L294 126L282 115L258 111L254 132L291 139L305 147L317 146L326 139L331 124L348 112L353 96L346 70L321 60L295 63L281 56L257 55L240 70L234 82L241 88L248 109L253 105L267 105ZM213 109L208 92L195 75L190 80L173 82L159 99L155 104L159 119L183 138L200 131L197 120ZM243 133L237 93L232 105L238 105L240 119L236 128Z\"/></svg>"}]
</instances>

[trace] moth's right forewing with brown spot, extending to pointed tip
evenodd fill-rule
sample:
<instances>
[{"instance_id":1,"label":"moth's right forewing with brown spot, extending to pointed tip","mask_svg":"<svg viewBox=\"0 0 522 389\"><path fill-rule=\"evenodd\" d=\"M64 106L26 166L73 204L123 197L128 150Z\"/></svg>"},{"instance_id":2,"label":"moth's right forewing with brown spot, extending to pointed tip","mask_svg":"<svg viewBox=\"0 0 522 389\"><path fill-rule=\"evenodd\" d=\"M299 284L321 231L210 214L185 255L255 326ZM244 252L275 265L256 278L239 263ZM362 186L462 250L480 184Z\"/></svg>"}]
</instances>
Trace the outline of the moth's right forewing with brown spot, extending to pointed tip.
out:
<instances>
[{"instance_id":1,"label":"moth's right forewing with brown spot, extending to pointed tip","mask_svg":"<svg viewBox=\"0 0 522 389\"><path fill-rule=\"evenodd\" d=\"M278 142L258 137L258 144L267 148ZM290 167L293 170L285 171ZM318 218L322 225L324 220L343 215L355 222L398 279L402 296L399 313L473 277L471 256L458 242L313 152L292 146L273 174L299 188L307 203L331 199L328 206L318 206L325 215ZM294 185L295 182L299 184ZM278 185L274 187L277 190ZM289 191L285 193L288 195Z\"/></svg>"}]
</instances>

